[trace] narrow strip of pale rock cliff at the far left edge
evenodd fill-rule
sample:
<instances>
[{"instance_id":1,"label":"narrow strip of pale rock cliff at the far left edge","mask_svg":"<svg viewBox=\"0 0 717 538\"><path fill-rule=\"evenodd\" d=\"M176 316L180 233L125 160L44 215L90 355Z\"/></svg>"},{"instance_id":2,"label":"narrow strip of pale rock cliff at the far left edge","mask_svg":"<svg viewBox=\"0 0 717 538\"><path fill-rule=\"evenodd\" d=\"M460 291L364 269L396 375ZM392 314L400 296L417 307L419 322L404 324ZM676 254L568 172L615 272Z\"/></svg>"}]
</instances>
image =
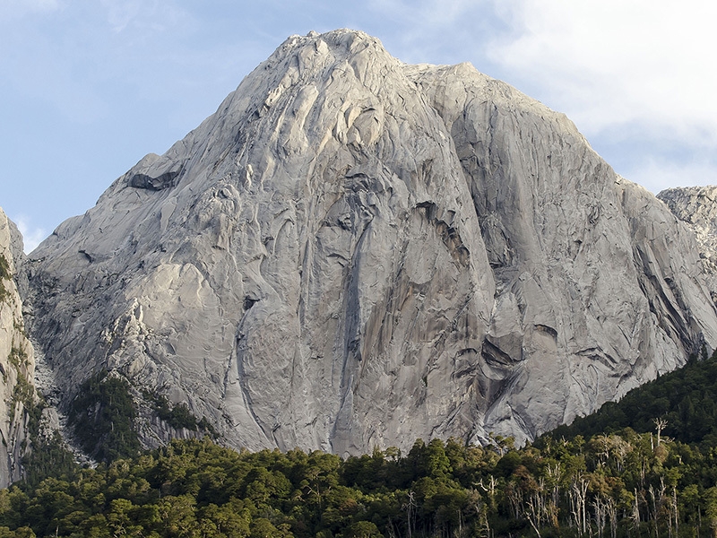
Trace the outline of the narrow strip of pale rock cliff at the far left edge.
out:
<instances>
[{"instance_id":1,"label":"narrow strip of pale rock cliff at the far left edge","mask_svg":"<svg viewBox=\"0 0 717 538\"><path fill-rule=\"evenodd\" d=\"M22 478L28 411L36 400L34 354L15 280L23 258L22 236L0 209L0 488Z\"/></svg>"}]
</instances>

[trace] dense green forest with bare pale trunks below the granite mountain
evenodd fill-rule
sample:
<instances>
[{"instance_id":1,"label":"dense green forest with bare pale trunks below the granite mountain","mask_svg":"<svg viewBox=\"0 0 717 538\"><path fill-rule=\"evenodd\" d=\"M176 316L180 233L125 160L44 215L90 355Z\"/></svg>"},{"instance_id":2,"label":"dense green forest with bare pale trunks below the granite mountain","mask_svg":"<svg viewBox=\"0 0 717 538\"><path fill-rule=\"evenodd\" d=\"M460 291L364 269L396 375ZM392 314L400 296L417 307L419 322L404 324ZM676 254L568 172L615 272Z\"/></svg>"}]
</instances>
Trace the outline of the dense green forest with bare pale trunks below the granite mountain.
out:
<instances>
[{"instance_id":1,"label":"dense green forest with bare pale trunks below the granite mountain","mask_svg":"<svg viewBox=\"0 0 717 538\"><path fill-rule=\"evenodd\" d=\"M0 537L715 537L716 380L715 356L690 360L525 447L418 439L342 459L206 436L59 458L0 490Z\"/></svg>"}]
</instances>

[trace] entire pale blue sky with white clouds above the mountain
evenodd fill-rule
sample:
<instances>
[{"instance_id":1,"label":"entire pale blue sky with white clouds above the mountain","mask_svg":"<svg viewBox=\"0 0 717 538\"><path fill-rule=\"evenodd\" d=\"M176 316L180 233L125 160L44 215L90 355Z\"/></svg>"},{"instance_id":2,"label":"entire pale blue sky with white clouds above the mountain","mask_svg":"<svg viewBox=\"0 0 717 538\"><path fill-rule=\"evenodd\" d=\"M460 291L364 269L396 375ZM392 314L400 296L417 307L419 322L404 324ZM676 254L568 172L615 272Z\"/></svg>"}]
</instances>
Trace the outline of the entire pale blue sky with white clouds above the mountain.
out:
<instances>
[{"instance_id":1,"label":"entire pale blue sky with white clouds above the mountain","mask_svg":"<svg viewBox=\"0 0 717 538\"><path fill-rule=\"evenodd\" d=\"M289 35L344 27L513 84L653 193L717 183L716 20L696 0L0 0L0 206L33 247Z\"/></svg>"}]
</instances>

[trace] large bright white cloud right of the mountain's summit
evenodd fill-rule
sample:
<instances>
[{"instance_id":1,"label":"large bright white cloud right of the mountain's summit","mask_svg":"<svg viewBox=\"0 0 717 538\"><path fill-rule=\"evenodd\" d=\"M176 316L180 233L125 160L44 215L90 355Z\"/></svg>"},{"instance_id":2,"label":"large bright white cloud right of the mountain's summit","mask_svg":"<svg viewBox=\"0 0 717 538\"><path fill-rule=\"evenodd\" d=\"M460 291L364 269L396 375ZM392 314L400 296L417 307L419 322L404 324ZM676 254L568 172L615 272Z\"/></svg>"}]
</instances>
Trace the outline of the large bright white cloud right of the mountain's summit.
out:
<instances>
[{"instance_id":1,"label":"large bright white cloud right of the mountain's summit","mask_svg":"<svg viewBox=\"0 0 717 538\"><path fill-rule=\"evenodd\" d=\"M586 133L616 125L717 143L717 4L512 0L488 54Z\"/></svg>"}]
</instances>

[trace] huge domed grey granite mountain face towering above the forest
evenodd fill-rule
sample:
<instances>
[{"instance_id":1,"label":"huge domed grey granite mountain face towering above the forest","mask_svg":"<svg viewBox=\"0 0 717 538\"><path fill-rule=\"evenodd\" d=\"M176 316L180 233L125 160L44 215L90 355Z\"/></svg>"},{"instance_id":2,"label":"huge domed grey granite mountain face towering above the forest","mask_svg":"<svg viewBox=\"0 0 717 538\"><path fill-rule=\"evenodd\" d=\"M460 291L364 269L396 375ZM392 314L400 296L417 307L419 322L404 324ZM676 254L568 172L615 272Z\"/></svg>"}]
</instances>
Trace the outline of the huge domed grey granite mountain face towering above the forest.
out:
<instances>
[{"instance_id":1,"label":"huge domed grey granite mountain face towering above the forest","mask_svg":"<svg viewBox=\"0 0 717 538\"><path fill-rule=\"evenodd\" d=\"M289 38L32 258L68 398L117 369L235 447L524 440L717 345L695 239L566 117L350 30Z\"/></svg>"}]
</instances>

